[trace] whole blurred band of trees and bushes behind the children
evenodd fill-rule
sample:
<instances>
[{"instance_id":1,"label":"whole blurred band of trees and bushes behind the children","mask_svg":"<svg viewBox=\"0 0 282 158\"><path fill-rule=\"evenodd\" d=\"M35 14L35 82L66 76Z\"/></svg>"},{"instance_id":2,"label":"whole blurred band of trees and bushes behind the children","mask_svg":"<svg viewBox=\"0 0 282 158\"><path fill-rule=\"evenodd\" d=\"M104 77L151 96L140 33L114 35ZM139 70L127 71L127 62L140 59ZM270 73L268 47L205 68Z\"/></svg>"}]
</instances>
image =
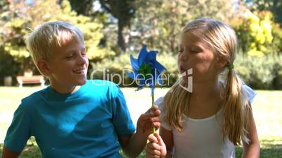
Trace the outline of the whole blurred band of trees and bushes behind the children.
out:
<instances>
[{"instance_id":1,"label":"whole blurred band of trees and bushes behind the children","mask_svg":"<svg viewBox=\"0 0 282 158\"><path fill-rule=\"evenodd\" d=\"M38 73L25 48L25 36L42 22L62 20L85 34L89 76L95 69L107 68L108 73L119 73L130 82L122 74L130 68L129 55L137 56L147 44L149 50L159 51L158 60L168 68L170 86L178 77L180 30L197 17L213 17L235 29L240 52L236 69L246 83L282 89L278 0L4 0L0 9L0 81L27 70ZM257 66L248 64L252 61ZM102 78L102 74L91 77Z\"/></svg>"}]
</instances>

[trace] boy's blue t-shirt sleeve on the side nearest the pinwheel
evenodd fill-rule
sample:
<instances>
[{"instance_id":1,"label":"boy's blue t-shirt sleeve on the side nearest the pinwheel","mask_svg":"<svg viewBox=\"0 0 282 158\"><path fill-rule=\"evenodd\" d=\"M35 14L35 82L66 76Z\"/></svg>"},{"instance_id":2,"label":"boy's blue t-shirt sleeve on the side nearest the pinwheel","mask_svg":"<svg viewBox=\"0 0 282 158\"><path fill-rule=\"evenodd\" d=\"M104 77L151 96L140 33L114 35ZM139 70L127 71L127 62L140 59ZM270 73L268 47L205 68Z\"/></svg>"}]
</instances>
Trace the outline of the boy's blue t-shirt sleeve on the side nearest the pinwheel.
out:
<instances>
[{"instance_id":1,"label":"boy's blue t-shirt sleeve on the side nearest the pinwheel","mask_svg":"<svg viewBox=\"0 0 282 158\"><path fill-rule=\"evenodd\" d=\"M118 136L128 136L134 134L135 126L131 120L126 99L117 85L116 93L113 94L112 106L114 115L113 123Z\"/></svg>"}]
</instances>

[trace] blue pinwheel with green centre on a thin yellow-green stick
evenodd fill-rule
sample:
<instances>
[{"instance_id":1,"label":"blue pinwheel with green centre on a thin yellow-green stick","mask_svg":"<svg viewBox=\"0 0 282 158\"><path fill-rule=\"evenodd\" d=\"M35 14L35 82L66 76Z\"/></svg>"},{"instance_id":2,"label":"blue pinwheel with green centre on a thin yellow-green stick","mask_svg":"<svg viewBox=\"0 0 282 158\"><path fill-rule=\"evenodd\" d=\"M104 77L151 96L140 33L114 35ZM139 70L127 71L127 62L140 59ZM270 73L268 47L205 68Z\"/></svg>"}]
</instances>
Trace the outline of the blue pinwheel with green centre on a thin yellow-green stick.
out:
<instances>
[{"instance_id":1,"label":"blue pinwheel with green centre on a thin yellow-green stick","mask_svg":"<svg viewBox=\"0 0 282 158\"><path fill-rule=\"evenodd\" d=\"M133 72L127 74L130 78L137 81L137 90L149 85L152 91L152 108L154 108L154 89L156 83L159 85L163 84L161 72L166 68L156 61L157 52L154 50L148 52L146 47L147 45L143 45L137 59L130 55ZM153 127L153 134L155 132L155 128Z\"/></svg>"}]
</instances>

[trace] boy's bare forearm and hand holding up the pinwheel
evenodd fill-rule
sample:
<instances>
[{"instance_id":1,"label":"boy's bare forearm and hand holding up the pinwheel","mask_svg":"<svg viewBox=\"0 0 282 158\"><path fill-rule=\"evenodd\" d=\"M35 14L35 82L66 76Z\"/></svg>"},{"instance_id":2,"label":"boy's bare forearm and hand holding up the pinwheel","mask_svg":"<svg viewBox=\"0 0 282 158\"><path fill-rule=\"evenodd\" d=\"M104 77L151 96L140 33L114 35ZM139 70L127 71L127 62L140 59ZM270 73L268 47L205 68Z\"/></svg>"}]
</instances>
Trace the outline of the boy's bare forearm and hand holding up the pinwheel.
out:
<instances>
[{"instance_id":1,"label":"boy's bare forearm and hand holding up the pinwheel","mask_svg":"<svg viewBox=\"0 0 282 158\"><path fill-rule=\"evenodd\" d=\"M147 144L147 137L152 134L152 125L159 129L161 126L159 122L159 115L161 111L158 106L154 106L154 110L147 110L137 120L136 133L130 136L119 136L119 143L123 152L129 157L137 157Z\"/></svg>"}]
</instances>

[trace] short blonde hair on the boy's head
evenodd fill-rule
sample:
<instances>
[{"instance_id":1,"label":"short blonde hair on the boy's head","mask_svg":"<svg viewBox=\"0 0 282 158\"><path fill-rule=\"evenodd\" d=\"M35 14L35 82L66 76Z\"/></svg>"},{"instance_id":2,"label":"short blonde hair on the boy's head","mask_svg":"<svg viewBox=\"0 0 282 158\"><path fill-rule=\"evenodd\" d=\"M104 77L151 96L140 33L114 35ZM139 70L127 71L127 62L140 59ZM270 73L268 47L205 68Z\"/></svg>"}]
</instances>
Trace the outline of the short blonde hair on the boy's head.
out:
<instances>
[{"instance_id":1,"label":"short blonde hair on the boy's head","mask_svg":"<svg viewBox=\"0 0 282 158\"><path fill-rule=\"evenodd\" d=\"M60 47L69 40L84 41L82 32L68 22L45 22L27 36L25 43L36 65L39 59L48 61L53 55L53 49ZM40 73L42 73L40 71Z\"/></svg>"}]
</instances>

